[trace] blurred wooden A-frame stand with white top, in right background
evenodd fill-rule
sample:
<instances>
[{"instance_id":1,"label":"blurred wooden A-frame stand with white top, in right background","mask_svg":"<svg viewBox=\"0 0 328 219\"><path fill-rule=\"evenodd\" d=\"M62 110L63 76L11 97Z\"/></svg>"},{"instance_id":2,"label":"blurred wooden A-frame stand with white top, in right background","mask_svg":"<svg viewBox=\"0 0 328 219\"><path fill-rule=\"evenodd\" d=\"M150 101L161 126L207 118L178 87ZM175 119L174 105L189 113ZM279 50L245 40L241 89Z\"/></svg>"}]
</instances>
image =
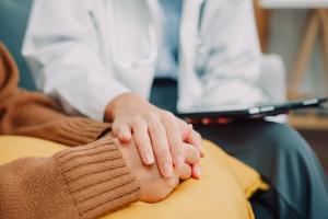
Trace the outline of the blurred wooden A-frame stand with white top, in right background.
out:
<instances>
[{"instance_id":1,"label":"blurred wooden A-frame stand with white top, in right background","mask_svg":"<svg viewBox=\"0 0 328 219\"><path fill-rule=\"evenodd\" d=\"M309 9L309 16L305 34L291 70L291 82L289 84L289 97L304 97L298 87L304 80L305 68L308 65L313 47L317 36L323 42L326 88L328 87L328 0L259 0L262 9ZM328 88L327 88L328 94Z\"/></svg>"}]
</instances>

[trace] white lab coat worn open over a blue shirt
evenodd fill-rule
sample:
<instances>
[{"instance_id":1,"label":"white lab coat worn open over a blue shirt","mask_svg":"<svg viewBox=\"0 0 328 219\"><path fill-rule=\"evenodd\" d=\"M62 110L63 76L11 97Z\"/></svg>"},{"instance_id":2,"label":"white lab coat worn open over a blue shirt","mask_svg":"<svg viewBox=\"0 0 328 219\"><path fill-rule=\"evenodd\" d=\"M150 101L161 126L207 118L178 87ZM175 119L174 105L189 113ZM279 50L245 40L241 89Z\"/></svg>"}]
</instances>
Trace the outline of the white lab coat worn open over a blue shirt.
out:
<instances>
[{"instance_id":1,"label":"white lab coat worn open over a blue shirt","mask_svg":"<svg viewBox=\"0 0 328 219\"><path fill-rule=\"evenodd\" d=\"M243 107L262 101L255 85L260 49L253 1L207 0L200 23L201 3L184 0L177 110ZM156 53L151 61L142 60L157 47L156 0L34 0L23 55L37 88L60 100L67 111L102 120L106 105L124 92L149 97Z\"/></svg>"}]
</instances>

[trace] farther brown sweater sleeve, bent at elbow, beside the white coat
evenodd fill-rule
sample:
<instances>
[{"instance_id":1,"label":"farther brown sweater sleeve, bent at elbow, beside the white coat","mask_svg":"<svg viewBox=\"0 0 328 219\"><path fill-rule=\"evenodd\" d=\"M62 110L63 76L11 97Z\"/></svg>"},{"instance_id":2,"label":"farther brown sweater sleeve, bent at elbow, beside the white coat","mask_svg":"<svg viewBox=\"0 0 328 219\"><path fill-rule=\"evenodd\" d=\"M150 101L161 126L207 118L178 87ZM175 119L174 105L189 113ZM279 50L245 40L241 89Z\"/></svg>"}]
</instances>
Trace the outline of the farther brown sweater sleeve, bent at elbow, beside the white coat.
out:
<instances>
[{"instance_id":1,"label":"farther brown sweater sleeve, bent at elbow, beside the white coat","mask_svg":"<svg viewBox=\"0 0 328 219\"><path fill-rule=\"evenodd\" d=\"M17 67L0 43L0 134L48 139L67 146L92 142L110 124L65 115L48 96L17 88Z\"/></svg>"}]
</instances>

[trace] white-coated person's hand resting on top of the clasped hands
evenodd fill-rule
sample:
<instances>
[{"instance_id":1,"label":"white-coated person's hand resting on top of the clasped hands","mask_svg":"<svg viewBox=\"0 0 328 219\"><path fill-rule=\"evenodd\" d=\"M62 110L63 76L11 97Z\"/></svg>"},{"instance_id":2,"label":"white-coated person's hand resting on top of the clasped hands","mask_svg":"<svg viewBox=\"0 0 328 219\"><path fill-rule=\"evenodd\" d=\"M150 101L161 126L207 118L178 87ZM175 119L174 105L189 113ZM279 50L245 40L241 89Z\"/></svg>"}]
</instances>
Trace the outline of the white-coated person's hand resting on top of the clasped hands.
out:
<instances>
[{"instance_id":1,"label":"white-coated person's hand resting on top of the clasped hands","mask_svg":"<svg viewBox=\"0 0 328 219\"><path fill-rule=\"evenodd\" d=\"M113 100L105 119L113 122L113 132L121 142L133 137L143 163L156 161L163 176L169 177L174 168L184 166L184 142L197 147L202 154L201 137L191 125L136 94L125 93ZM192 176L198 178L197 165L195 170Z\"/></svg>"}]
</instances>

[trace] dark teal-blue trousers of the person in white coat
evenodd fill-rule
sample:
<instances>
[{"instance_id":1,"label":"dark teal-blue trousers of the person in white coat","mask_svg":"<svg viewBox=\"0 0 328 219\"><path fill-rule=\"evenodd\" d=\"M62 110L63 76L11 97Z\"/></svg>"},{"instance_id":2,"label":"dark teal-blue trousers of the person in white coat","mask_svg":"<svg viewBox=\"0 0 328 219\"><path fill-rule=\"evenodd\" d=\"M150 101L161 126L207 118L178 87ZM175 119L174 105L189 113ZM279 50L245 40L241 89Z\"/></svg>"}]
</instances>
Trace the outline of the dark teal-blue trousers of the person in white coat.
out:
<instances>
[{"instance_id":1,"label":"dark teal-blue trousers of the person in white coat","mask_svg":"<svg viewBox=\"0 0 328 219\"><path fill-rule=\"evenodd\" d=\"M175 112L176 90L174 81L155 81L151 102ZM251 198L256 218L328 218L325 173L313 150L293 128L263 120L195 128L271 184L270 191Z\"/></svg>"}]
</instances>

